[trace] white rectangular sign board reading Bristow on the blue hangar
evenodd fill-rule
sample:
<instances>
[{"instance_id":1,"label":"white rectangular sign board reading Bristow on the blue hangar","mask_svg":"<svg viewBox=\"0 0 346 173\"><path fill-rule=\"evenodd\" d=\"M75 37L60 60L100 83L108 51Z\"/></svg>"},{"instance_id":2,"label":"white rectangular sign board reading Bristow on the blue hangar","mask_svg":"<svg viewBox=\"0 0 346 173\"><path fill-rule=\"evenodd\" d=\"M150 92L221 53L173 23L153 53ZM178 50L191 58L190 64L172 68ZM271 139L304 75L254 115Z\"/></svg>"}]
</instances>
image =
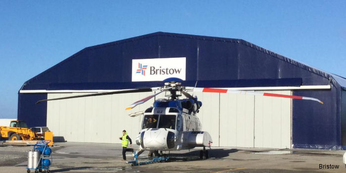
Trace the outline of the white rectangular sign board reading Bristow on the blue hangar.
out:
<instances>
[{"instance_id":1,"label":"white rectangular sign board reading Bristow on the blue hangar","mask_svg":"<svg viewBox=\"0 0 346 173\"><path fill-rule=\"evenodd\" d=\"M132 59L132 82L164 81L179 78L185 81L186 58Z\"/></svg>"}]
</instances>

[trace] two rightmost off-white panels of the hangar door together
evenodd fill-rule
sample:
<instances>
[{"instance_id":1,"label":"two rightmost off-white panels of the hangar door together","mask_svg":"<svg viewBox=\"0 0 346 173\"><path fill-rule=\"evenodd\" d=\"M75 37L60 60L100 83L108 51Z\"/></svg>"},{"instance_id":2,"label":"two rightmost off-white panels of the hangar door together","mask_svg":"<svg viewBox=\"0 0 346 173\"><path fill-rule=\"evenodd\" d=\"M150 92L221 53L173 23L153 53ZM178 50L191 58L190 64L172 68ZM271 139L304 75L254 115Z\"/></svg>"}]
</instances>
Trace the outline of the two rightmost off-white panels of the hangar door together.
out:
<instances>
[{"instance_id":1,"label":"two rightmost off-white panels of the hangar door together","mask_svg":"<svg viewBox=\"0 0 346 173\"><path fill-rule=\"evenodd\" d=\"M213 140L227 147L291 148L291 107L288 98L220 93L219 136Z\"/></svg>"}]
</instances>

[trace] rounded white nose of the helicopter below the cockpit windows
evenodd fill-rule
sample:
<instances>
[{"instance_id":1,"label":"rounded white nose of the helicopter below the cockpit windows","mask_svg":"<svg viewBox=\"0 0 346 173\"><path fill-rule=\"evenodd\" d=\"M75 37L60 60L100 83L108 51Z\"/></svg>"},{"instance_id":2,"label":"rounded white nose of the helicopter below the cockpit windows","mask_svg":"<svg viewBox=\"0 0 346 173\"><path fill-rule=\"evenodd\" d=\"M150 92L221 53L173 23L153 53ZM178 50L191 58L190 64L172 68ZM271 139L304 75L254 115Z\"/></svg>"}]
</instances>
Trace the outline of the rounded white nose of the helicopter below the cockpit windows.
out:
<instances>
[{"instance_id":1,"label":"rounded white nose of the helicopter below the cockpit windows","mask_svg":"<svg viewBox=\"0 0 346 173\"><path fill-rule=\"evenodd\" d=\"M174 147L174 133L165 129L151 129L141 133L142 148L166 150Z\"/></svg>"}]
</instances>

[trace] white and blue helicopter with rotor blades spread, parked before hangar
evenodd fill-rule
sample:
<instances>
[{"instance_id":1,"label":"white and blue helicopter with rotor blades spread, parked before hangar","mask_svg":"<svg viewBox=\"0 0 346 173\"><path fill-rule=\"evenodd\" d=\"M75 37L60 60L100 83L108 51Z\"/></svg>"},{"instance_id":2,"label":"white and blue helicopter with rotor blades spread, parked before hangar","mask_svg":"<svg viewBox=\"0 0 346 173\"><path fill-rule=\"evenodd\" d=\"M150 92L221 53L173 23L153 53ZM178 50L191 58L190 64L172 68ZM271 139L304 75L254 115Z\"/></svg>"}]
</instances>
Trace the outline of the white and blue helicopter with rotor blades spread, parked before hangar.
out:
<instances>
[{"instance_id":1,"label":"white and blue helicopter with rotor blades spread, parked before hangar","mask_svg":"<svg viewBox=\"0 0 346 173\"><path fill-rule=\"evenodd\" d=\"M296 95L274 94L258 91L244 91L232 90L224 88L206 88L206 87L183 87L180 82L165 83L165 86L159 88L139 88L127 89L121 91L101 92L77 96L68 96L52 99L39 100L36 104L43 101L60 100L87 96L98 96L119 93L133 93L133 92L151 92L158 90L157 93L149 95L141 100L138 100L128 107L130 110L135 106L142 104L156 95L165 92L167 98L156 99L152 107L147 108L145 111L130 114L130 117L143 115L141 130L139 135L135 138L135 142L139 145L139 151L177 151L187 150L195 147L203 147L200 150L200 158L208 159L209 152L206 147L211 148L213 140L207 131L202 131L202 124L197 117L202 102L198 100L197 96L189 94L187 91L194 92L216 92L216 93L238 93L238 94L251 94L262 95L271 97L283 97L292 99L313 100L321 104L323 102L317 98L303 97ZM180 99L184 95L186 98ZM140 154L139 153L139 154Z\"/></svg>"}]
</instances>

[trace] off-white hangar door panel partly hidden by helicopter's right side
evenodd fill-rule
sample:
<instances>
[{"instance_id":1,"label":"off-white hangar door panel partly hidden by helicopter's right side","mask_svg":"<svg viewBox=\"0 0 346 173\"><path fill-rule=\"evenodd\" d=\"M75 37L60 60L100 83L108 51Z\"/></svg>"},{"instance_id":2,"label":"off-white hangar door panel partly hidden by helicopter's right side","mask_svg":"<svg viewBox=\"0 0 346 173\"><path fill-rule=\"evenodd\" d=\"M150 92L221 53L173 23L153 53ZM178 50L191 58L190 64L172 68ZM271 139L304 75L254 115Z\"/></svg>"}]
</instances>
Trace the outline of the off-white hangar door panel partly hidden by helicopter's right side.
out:
<instances>
[{"instance_id":1,"label":"off-white hangar door panel partly hidden by helicopter's right side","mask_svg":"<svg viewBox=\"0 0 346 173\"><path fill-rule=\"evenodd\" d=\"M197 114L202 124L202 130L208 131L213 139L213 146L219 146L219 94L196 92L198 100L202 101L202 107Z\"/></svg>"}]
</instances>

